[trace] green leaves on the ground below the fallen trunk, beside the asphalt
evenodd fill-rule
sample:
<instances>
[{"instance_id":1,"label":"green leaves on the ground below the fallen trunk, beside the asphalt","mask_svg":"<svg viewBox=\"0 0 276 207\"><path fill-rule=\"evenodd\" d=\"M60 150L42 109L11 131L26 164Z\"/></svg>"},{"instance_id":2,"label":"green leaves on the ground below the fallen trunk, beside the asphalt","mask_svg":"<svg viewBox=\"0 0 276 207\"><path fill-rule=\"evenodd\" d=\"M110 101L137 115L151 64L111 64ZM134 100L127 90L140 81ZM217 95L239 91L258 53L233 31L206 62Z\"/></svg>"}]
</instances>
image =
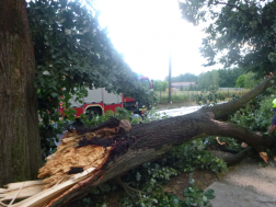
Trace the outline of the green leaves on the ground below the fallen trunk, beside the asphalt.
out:
<instances>
[{"instance_id":1,"label":"green leaves on the ground below the fallen trunk, beside the asphalt","mask_svg":"<svg viewBox=\"0 0 276 207\"><path fill-rule=\"evenodd\" d=\"M176 196L163 193L161 184L168 182L170 176L176 175L177 171L193 172L194 169L207 169L214 172L226 172L226 163L216 158L208 151L205 151L205 145L202 139L196 139L189 143L184 143L174 148L168 153L166 158L151 163L143 163L141 166L130 170L124 176L127 185L148 192L150 194L138 195L140 206L206 206L209 199L212 199L214 191L204 192L194 185L194 180L189 180L192 186L183 192L185 202ZM174 170L176 169L176 170ZM193 173L192 173L193 174ZM133 206L129 197L125 197L122 202L123 206Z\"/></svg>"}]
</instances>

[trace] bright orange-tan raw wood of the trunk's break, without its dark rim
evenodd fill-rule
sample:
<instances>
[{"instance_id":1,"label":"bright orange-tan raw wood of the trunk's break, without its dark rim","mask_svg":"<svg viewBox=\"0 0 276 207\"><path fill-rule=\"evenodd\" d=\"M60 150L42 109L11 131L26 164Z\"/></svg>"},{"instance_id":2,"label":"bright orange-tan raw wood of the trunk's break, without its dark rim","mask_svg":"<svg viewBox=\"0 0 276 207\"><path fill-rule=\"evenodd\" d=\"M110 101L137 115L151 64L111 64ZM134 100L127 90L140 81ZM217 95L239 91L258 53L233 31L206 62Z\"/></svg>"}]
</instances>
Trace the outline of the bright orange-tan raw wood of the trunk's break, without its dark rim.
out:
<instances>
[{"instance_id":1,"label":"bright orange-tan raw wood of the trunk's break, without its dark rim","mask_svg":"<svg viewBox=\"0 0 276 207\"><path fill-rule=\"evenodd\" d=\"M102 133L104 130L101 130ZM107 130L110 131L110 129ZM94 133L78 135L76 131L66 134L61 139L58 151L47 158L47 163L39 169L38 179L44 179L44 189L47 189L57 183L68 181L72 174L69 171L73 168L84 170L89 168L97 168L107 158L111 147L89 145L78 148L79 141L82 139L91 140L95 137Z\"/></svg>"}]
</instances>

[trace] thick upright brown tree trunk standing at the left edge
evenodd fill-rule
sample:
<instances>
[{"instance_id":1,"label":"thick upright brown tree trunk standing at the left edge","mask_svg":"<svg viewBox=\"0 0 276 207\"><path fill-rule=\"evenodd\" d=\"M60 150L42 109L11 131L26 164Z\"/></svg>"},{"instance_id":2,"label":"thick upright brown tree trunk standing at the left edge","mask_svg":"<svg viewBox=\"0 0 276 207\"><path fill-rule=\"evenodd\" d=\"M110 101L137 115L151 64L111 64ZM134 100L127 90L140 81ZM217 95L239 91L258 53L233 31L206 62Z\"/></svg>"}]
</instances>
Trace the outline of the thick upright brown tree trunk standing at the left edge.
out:
<instances>
[{"instance_id":1,"label":"thick upright brown tree trunk standing at the left edge","mask_svg":"<svg viewBox=\"0 0 276 207\"><path fill-rule=\"evenodd\" d=\"M24 0L0 0L0 185L42 165L35 61Z\"/></svg>"}]
</instances>

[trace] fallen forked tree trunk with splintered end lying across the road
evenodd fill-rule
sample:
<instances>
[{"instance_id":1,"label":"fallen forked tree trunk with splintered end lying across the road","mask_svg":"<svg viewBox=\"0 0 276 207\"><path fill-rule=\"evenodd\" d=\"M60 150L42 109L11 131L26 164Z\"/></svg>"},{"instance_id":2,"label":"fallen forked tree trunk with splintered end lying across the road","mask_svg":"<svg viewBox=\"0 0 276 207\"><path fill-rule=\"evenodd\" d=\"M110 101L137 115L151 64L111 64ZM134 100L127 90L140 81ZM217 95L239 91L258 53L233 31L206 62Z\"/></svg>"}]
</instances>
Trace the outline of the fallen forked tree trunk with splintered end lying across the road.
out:
<instances>
[{"instance_id":1,"label":"fallen forked tree trunk with splintered end lying across the road","mask_svg":"<svg viewBox=\"0 0 276 207\"><path fill-rule=\"evenodd\" d=\"M41 170L41 177L50 175L50 177L44 180L44 182L46 182L45 186L47 185L47 187L49 187L45 191L46 193L53 191L55 187L59 187L57 189L59 194L55 194L54 197L48 197L49 199L47 199L47 203L44 203L44 205L46 204L45 206L48 207L61 206L72 199L80 198L85 195L90 188L115 179L145 162L156 160L174 146L195 138L206 136L231 137L249 143L260 153L267 148L272 148L275 145L274 139L263 136L262 134L250 131L244 127L216 119L233 112L232 108L238 110L248 103L269 85L272 79L273 78L268 78L264 80L255 90L241 97L240 101L221 104L210 108L203 108L184 116L134 125L131 131L127 128L128 126L122 126L122 123L116 123L116 120L105 123L96 128L85 129L84 131L71 131L71 134L67 135L64 139L64 143L59 147L59 151L54 156L55 158L48 159L48 166L46 166L46 164L43 168L44 170ZM90 161L88 161L90 160L90 153L88 152L83 152L85 156L79 157L82 153L81 150L92 150L91 154L94 154L95 152L93 150L96 148L101 148L100 151L102 151L102 156L99 156L99 159L101 158L101 163L96 165L90 163ZM55 161L56 158L61 157L67 157L67 159L58 162ZM77 157L79 158L77 159ZM78 162L76 160L78 160ZM85 163L83 160L85 160ZM56 163L56 165L53 163ZM62 170L57 170L56 166L64 165L62 163L69 164L65 164L65 166L61 168ZM68 175L71 170L80 172L80 175ZM83 175L81 175L81 173ZM57 174L60 176L54 179ZM56 185L58 182L61 182L61 184L53 187L53 185ZM66 187L60 189L60 185L66 185ZM41 193L42 199L43 196L46 196L46 193ZM32 197L13 206L24 206L22 204L24 204L24 202L26 204L30 199L32 199ZM37 199L37 195L35 199Z\"/></svg>"}]
</instances>

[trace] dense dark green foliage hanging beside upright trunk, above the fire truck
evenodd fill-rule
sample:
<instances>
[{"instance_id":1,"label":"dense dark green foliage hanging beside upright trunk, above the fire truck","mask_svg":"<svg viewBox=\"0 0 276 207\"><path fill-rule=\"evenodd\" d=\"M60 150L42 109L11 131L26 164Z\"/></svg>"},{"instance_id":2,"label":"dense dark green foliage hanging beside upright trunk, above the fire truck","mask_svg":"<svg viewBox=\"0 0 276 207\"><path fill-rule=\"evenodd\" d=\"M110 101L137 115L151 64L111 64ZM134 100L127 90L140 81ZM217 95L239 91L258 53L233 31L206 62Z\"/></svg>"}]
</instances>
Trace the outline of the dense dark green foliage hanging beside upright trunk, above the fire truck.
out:
<instances>
[{"instance_id":1,"label":"dense dark green foliage hanging beside upright trunk, above the fire truck","mask_svg":"<svg viewBox=\"0 0 276 207\"><path fill-rule=\"evenodd\" d=\"M150 100L138 76L114 48L107 30L101 28L93 1L32 0L26 10L34 43L44 156L55 148L55 137L66 125L57 113L61 97L64 107L69 108L68 101L72 96L78 100L89 85L105 87L136 101ZM73 120L73 111L66 111L64 117Z\"/></svg>"}]
</instances>

